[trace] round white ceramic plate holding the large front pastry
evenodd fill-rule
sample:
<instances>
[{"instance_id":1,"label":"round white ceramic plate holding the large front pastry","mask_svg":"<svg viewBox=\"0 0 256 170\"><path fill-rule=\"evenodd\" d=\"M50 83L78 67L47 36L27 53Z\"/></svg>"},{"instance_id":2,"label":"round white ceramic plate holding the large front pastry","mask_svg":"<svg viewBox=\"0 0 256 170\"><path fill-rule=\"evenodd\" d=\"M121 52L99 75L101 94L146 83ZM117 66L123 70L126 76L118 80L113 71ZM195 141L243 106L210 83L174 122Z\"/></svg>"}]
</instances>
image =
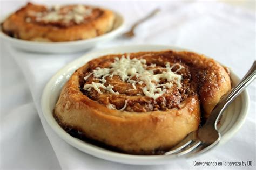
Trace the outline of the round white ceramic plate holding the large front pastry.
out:
<instances>
[{"instance_id":1,"label":"round white ceramic plate holding the large front pastry","mask_svg":"<svg viewBox=\"0 0 256 170\"><path fill-rule=\"evenodd\" d=\"M137 165L156 165L156 164L168 164L171 160L176 159L171 155L130 155L118 152L106 150L104 148L86 143L85 141L79 140L70 136L66 133L55 121L52 115L52 110L58 100L60 90L66 81L69 80L70 75L75 72L80 66L93 58L97 58L106 54L114 53L126 53L126 52L139 52L139 51L160 51L164 49L173 49L181 51L185 49L172 47L172 46L161 46L161 45L134 45L124 47L114 47L105 49L103 51L92 52L83 55L81 58L71 62L69 65L60 69L55 76L46 84L42 96L42 110L44 117L51 128L67 143L78 148L85 153L91 154L95 157L120 162L125 164L137 164ZM239 78L231 71L231 79L234 84L239 82ZM221 133L221 141L219 144L225 143L229 140L244 123L249 108L249 96L245 90L235 101L228 107L221 118L219 132ZM208 151L207 151L208 152ZM180 157L179 157L180 158ZM182 157L181 157L182 158Z\"/></svg>"}]
</instances>

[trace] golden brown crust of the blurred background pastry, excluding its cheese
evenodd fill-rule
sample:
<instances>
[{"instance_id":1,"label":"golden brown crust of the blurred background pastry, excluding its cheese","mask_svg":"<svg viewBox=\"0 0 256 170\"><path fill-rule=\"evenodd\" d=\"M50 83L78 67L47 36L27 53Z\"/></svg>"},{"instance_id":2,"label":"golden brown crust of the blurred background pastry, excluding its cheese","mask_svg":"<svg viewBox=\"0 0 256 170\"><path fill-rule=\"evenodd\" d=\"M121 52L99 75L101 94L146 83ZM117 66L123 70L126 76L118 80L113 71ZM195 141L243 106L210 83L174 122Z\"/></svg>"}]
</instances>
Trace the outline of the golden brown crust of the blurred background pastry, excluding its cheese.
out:
<instances>
[{"instance_id":1,"label":"golden brown crust of the blurred background pastry, excluding its cheese","mask_svg":"<svg viewBox=\"0 0 256 170\"><path fill-rule=\"evenodd\" d=\"M69 6L68 6L69 7ZM89 39L106 32L109 32L114 23L114 14L106 9L93 9L92 18L88 22L62 25L57 22L42 23L32 20L28 22L26 18L31 11L45 11L45 6L28 3L9 16L2 24L3 32L23 40L30 41L75 41Z\"/></svg>"}]
</instances>

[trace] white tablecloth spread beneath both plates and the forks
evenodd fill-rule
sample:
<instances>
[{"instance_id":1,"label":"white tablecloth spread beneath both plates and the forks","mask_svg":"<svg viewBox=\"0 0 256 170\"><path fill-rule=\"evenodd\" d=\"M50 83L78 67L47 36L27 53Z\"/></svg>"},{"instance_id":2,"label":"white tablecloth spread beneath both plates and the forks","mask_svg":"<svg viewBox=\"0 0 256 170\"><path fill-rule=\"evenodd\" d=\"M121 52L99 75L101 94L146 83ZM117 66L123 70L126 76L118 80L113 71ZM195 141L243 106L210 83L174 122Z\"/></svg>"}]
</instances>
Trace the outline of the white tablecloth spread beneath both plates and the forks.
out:
<instances>
[{"instance_id":1,"label":"white tablecloth spread beneath both plates and the forks","mask_svg":"<svg viewBox=\"0 0 256 170\"><path fill-rule=\"evenodd\" d=\"M156 17L136 29L136 37L117 38L93 50L134 43L179 46L211 56L231 67L240 77L247 72L255 60L255 13L208 1L189 3L86 1L86 3L106 6L123 13L127 28L157 6L161 8L161 12ZM24 2L21 1L1 2L1 15L23 4ZM248 87L251 107L246 122L226 144L197 158L170 160L169 165L117 164L92 157L66 144L50 129L42 116L40 100L46 82L58 69L85 52L60 55L26 53L12 48L2 39L0 50L0 169L236 168L236 166L194 166L194 161L253 161L253 166L245 168L255 168L255 82Z\"/></svg>"}]
</instances>

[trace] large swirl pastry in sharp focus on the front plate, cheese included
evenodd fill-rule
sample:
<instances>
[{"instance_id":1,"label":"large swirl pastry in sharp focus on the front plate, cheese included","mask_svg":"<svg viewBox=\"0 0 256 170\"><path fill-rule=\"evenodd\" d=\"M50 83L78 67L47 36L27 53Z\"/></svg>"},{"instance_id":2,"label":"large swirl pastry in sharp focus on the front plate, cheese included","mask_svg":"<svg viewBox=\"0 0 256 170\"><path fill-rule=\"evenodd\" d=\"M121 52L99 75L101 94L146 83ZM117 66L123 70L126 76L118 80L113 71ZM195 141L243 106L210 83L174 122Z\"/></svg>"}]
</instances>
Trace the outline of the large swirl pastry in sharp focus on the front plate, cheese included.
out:
<instances>
[{"instance_id":1,"label":"large swirl pastry in sharp focus on the front plate, cheese included","mask_svg":"<svg viewBox=\"0 0 256 170\"><path fill-rule=\"evenodd\" d=\"M73 73L54 115L64 129L120 151L154 154L198 129L230 89L226 70L196 53L106 55Z\"/></svg>"}]
</instances>

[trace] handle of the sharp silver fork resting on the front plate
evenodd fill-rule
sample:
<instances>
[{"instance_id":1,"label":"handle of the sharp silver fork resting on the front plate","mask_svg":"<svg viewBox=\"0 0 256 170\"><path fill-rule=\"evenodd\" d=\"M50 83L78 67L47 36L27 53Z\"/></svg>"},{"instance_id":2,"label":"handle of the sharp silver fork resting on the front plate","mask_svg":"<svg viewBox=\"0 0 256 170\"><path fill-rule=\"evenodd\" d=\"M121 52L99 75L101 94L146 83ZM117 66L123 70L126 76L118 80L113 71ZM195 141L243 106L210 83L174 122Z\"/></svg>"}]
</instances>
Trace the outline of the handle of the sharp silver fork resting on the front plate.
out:
<instances>
[{"instance_id":1,"label":"handle of the sharp silver fork resting on the front plate","mask_svg":"<svg viewBox=\"0 0 256 170\"><path fill-rule=\"evenodd\" d=\"M244 78L235 86L230 93L223 97L220 102L212 110L210 117L208 117L205 125L213 125L217 128L218 119L223 114L223 111L231 104L231 102L240 94L244 89L251 84L256 77L256 61L254 61L250 70L246 73Z\"/></svg>"}]
</instances>

